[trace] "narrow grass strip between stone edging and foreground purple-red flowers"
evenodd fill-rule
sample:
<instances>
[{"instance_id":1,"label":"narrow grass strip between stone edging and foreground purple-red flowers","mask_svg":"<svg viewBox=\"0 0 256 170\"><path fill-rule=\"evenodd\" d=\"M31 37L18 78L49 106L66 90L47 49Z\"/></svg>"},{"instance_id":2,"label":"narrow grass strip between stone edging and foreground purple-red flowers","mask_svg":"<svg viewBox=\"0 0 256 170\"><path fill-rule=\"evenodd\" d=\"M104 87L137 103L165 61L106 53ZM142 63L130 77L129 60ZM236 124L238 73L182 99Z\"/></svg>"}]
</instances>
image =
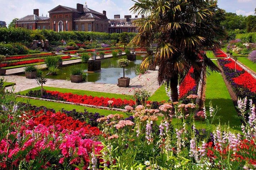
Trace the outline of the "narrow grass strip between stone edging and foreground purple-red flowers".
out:
<instances>
[{"instance_id":1,"label":"narrow grass strip between stone edging and foreground purple-red flowers","mask_svg":"<svg viewBox=\"0 0 256 170\"><path fill-rule=\"evenodd\" d=\"M32 106L45 106L47 108L54 109L55 111L60 111L62 108L64 108L67 111L71 111L73 109L76 109L77 111L83 112L84 109L87 109L88 112L98 112L101 115L109 115L109 114L123 114L124 117L128 117L124 112L117 112L117 111L109 111L104 109L96 109L96 108L90 108L90 107L84 107L84 106L77 106L72 104L62 104L62 103L55 103L55 102L48 102L48 101L41 101L41 100L34 100L34 99L27 99L27 98L21 98L17 97L17 102L23 102L23 103L30 103Z\"/></svg>"}]
</instances>

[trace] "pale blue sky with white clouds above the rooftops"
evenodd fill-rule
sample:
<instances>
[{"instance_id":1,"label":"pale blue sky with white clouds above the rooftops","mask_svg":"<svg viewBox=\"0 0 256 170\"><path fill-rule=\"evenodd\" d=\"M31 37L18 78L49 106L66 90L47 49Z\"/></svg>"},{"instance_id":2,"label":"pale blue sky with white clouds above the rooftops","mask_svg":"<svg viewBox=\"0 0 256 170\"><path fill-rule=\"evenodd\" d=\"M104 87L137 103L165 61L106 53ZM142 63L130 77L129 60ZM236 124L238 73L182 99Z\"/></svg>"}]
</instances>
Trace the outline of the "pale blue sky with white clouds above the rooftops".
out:
<instances>
[{"instance_id":1,"label":"pale blue sky with white clouds above the rooftops","mask_svg":"<svg viewBox=\"0 0 256 170\"><path fill-rule=\"evenodd\" d=\"M134 4L132 0L86 0L88 8L101 12L106 11L108 18L114 18L114 15L135 14L129 11ZM49 16L48 11L52 8L63 5L76 8L76 4L85 4L85 0L0 0L0 21L5 21L7 25L14 18L22 18L26 15L32 15L33 9L38 8L40 16ZM218 6L227 12L234 12L237 15L254 15L256 0L218 0Z\"/></svg>"}]
</instances>

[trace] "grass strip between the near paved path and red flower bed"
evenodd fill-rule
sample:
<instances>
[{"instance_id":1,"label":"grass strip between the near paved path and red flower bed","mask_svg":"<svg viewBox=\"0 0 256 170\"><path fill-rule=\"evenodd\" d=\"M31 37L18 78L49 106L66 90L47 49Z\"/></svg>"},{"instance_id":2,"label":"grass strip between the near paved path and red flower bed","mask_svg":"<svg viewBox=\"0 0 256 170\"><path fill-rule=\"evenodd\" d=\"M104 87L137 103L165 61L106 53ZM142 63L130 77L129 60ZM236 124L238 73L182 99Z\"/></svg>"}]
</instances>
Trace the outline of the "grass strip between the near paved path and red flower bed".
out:
<instances>
[{"instance_id":1,"label":"grass strip between the near paved path and red flower bed","mask_svg":"<svg viewBox=\"0 0 256 170\"><path fill-rule=\"evenodd\" d=\"M127 99L130 100L132 99L131 95L121 95L121 94L112 94L112 93L104 93L104 92L96 92L96 91L85 91L85 90L74 90L74 89L63 89L63 88L58 88L58 87L43 87L45 90L50 90L50 91L59 91L62 93L73 93L73 94L78 94L78 95L88 95L88 96L97 96L97 97L109 97L109 98L121 98L121 99ZM33 89L21 91L21 95L25 95L28 91L30 90L40 90L40 87L35 87Z\"/></svg>"}]
</instances>

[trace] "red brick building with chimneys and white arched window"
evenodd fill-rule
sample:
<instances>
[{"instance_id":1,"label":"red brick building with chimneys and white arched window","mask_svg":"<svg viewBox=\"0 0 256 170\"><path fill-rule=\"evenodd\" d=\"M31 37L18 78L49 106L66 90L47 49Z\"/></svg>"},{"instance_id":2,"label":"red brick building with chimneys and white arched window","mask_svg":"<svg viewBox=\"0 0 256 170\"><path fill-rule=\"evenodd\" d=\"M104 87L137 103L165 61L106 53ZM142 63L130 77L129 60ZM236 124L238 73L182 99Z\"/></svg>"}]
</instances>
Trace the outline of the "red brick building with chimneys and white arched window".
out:
<instances>
[{"instance_id":1,"label":"red brick building with chimneys and white arched window","mask_svg":"<svg viewBox=\"0 0 256 170\"><path fill-rule=\"evenodd\" d=\"M133 23L138 19L125 15L120 19L120 15L115 15L114 19L106 17L106 11L102 13L87 7L87 4L77 4L77 8L58 5L48 11L49 17L39 16L39 10L34 9L33 15L27 15L16 21L16 27L27 29L51 29L60 31L95 31L108 33L137 32Z\"/></svg>"}]
</instances>

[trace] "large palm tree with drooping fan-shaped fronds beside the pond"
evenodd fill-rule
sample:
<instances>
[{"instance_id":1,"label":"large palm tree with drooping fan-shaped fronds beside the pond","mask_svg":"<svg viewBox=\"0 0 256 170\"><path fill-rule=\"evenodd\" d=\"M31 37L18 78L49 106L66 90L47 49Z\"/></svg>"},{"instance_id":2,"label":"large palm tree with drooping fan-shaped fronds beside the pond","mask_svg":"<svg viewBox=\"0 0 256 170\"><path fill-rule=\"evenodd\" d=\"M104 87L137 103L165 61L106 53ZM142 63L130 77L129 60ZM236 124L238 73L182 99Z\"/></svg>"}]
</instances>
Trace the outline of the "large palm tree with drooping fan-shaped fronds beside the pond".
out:
<instances>
[{"instance_id":1,"label":"large palm tree with drooping fan-shaped fronds beside the pond","mask_svg":"<svg viewBox=\"0 0 256 170\"><path fill-rule=\"evenodd\" d=\"M133 0L134 1L134 0ZM157 43L155 61L159 66L158 83L170 86L172 100L178 101L177 86L193 67L199 81L202 67L219 68L202 52L219 46L224 30L215 22L215 1L137 0L132 12L147 15L136 21L139 33L130 45L150 49ZM149 55L150 56L150 55ZM146 61L142 67L146 67Z\"/></svg>"}]
</instances>

